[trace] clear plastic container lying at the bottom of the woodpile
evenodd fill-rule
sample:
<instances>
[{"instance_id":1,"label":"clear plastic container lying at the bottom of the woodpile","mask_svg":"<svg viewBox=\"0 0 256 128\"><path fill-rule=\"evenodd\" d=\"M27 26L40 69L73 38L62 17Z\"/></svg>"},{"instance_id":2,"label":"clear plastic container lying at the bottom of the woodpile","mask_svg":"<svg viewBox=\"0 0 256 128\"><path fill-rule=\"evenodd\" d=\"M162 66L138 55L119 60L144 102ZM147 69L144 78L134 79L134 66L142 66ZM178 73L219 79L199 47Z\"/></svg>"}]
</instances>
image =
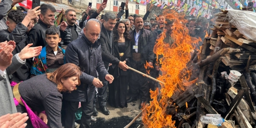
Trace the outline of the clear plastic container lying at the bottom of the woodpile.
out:
<instances>
[{"instance_id":1,"label":"clear plastic container lying at the bottom of the woodpile","mask_svg":"<svg viewBox=\"0 0 256 128\"><path fill-rule=\"evenodd\" d=\"M200 121L203 124L212 124L216 126L221 126L221 124L225 121L221 116L207 116L203 115L200 118Z\"/></svg>"}]
</instances>

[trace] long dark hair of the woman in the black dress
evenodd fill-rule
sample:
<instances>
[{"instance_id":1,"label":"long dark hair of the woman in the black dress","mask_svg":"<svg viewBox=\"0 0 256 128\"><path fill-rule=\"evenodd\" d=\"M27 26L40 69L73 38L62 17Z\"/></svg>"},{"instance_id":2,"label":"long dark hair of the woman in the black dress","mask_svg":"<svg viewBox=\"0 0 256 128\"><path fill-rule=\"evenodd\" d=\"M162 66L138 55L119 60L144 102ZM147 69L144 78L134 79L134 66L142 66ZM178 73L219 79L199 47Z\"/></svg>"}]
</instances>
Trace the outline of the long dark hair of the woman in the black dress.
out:
<instances>
[{"instance_id":1,"label":"long dark hair of the woman in the black dress","mask_svg":"<svg viewBox=\"0 0 256 128\"><path fill-rule=\"evenodd\" d=\"M115 24L115 27L114 27L114 30L113 30L114 42L118 42L118 40L119 40L119 34L118 34L118 31L117 31L117 28L118 28L120 23L123 23L124 26L125 26L125 31L124 31L125 40L128 40L128 41L132 40L131 35L128 33L128 28L127 28L126 24L123 21L119 21Z\"/></svg>"}]
</instances>

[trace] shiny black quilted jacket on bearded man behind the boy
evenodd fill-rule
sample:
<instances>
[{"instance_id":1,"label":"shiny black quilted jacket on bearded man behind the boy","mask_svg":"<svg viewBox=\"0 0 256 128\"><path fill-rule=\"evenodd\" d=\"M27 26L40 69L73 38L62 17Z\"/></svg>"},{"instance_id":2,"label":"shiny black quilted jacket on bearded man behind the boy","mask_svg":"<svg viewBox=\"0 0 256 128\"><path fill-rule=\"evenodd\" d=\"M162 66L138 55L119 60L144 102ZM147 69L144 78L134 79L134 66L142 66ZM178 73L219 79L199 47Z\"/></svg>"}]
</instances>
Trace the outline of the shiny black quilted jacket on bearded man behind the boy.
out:
<instances>
[{"instance_id":1,"label":"shiny black quilted jacket on bearded man behind the boy","mask_svg":"<svg viewBox=\"0 0 256 128\"><path fill-rule=\"evenodd\" d=\"M58 29L59 28L60 28L60 26L58 26ZM77 35L79 34L79 32L81 30L82 29L75 24L75 31L77 32ZM62 38L61 45L67 45L67 44L71 43L72 41L74 41L73 36L71 34L70 25L67 25L65 31L60 31L60 32L61 32L61 38ZM66 34L65 34L65 32L66 32Z\"/></svg>"}]
</instances>

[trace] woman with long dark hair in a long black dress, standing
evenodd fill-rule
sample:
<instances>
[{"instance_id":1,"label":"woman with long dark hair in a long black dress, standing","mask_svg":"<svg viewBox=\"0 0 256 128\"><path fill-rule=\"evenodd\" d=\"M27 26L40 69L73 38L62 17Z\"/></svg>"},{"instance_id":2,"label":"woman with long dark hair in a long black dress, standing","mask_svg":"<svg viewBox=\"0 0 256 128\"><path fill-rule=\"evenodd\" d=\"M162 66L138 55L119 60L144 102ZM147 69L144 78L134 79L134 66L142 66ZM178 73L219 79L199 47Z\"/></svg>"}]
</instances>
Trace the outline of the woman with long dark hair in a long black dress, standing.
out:
<instances>
[{"instance_id":1,"label":"woman with long dark hair in a long black dress, standing","mask_svg":"<svg viewBox=\"0 0 256 128\"><path fill-rule=\"evenodd\" d=\"M132 39L128 34L128 28L124 22L115 24L114 28L114 52L115 57L129 65L131 58ZM110 106L127 107L126 93L128 87L128 71L123 71L117 65L111 65L110 74L115 78L112 84L109 84L108 102Z\"/></svg>"}]
</instances>

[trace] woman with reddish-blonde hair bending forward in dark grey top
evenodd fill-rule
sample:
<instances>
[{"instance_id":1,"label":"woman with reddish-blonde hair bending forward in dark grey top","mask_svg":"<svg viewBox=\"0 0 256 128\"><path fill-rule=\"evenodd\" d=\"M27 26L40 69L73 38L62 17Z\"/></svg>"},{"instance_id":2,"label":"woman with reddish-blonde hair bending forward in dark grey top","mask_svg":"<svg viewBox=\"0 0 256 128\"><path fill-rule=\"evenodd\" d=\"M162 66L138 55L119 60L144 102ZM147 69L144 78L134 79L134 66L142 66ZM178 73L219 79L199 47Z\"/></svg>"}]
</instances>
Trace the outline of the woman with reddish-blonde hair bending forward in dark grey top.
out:
<instances>
[{"instance_id":1,"label":"woman with reddish-blonde hair bending forward in dark grey top","mask_svg":"<svg viewBox=\"0 0 256 128\"><path fill-rule=\"evenodd\" d=\"M80 75L78 66L67 63L53 73L37 75L15 85L13 95L17 111L26 112L30 117L27 128L62 128L62 92L75 90L80 84Z\"/></svg>"}]
</instances>

